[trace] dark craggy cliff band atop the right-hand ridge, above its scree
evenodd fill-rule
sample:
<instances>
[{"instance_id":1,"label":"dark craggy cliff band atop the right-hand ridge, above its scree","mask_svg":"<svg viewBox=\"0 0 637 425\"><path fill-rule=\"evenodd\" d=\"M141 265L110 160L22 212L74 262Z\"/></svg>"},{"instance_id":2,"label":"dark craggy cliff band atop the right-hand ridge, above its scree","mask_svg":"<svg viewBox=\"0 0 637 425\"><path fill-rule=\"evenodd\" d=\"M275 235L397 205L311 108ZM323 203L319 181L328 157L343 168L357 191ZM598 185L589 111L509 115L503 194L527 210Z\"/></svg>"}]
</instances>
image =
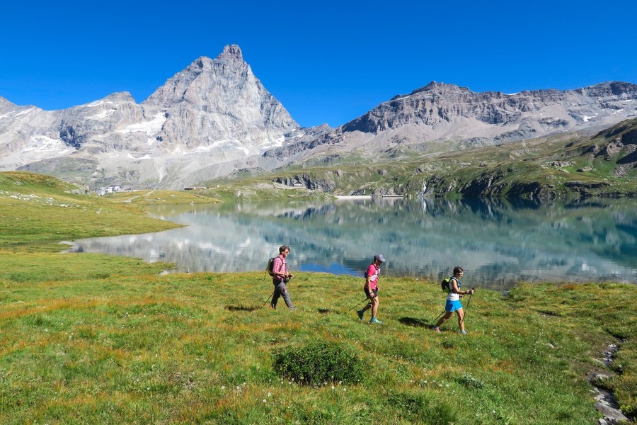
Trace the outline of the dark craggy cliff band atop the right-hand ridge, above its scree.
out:
<instances>
[{"instance_id":1,"label":"dark craggy cliff band atop the right-hand ridge, above its scree","mask_svg":"<svg viewBox=\"0 0 637 425\"><path fill-rule=\"evenodd\" d=\"M436 125L462 118L500 127L527 122L534 128L546 130L573 128L594 121L603 123L607 115L617 115L626 106L632 106L629 109L634 115L637 105L627 103L635 101L637 86L626 83L605 83L572 91L503 94L494 91L474 93L453 84L432 82L411 94L382 103L343 125L342 130L379 134L406 125L425 125L434 130ZM464 133L469 135L472 130L475 129L466 126Z\"/></svg>"}]
</instances>

